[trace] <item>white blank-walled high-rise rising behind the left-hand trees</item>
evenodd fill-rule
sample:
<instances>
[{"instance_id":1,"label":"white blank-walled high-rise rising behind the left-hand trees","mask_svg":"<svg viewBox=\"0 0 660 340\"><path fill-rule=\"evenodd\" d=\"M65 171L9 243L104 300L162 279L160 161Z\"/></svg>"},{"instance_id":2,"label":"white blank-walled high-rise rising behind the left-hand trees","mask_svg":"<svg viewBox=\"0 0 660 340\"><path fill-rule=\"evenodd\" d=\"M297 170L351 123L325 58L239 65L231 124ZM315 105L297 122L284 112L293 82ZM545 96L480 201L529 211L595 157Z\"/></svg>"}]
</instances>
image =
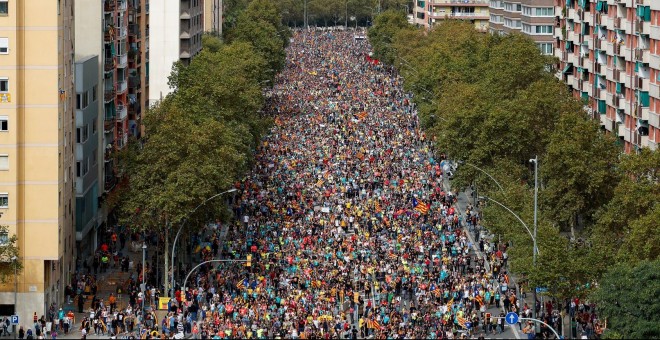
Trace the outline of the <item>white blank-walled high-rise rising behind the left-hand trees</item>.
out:
<instances>
[{"instance_id":1,"label":"white blank-walled high-rise rising behind the left-hand trees","mask_svg":"<svg viewBox=\"0 0 660 340\"><path fill-rule=\"evenodd\" d=\"M149 103L165 98L170 92L168 77L172 65L191 58L202 50L204 32L202 0L152 1L149 14L151 60L149 67Z\"/></svg>"}]
</instances>

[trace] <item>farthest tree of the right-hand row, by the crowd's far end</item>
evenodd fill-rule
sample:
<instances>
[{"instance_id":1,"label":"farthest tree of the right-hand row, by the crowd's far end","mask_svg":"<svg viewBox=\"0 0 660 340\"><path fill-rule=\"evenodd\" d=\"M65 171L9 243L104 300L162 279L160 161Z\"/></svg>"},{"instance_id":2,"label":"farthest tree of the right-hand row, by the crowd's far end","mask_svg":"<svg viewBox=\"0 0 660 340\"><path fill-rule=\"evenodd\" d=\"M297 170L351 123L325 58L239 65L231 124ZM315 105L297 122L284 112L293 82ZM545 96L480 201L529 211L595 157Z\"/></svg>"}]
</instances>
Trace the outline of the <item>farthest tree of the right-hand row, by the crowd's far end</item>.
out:
<instances>
[{"instance_id":1,"label":"farthest tree of the right-hand row, by the crowd's far end","mask_svg":"<svg viewBox=\"0 0 660 340\"><path fill-rule=\"evenodd\" d=\"M392 48L394 36L406 28L412 28L412 26L401 11L389 10L378 15L374 20L374 25L367 32L374 56L387 64L393 64L395 59L395 51Z\"/></svg>"}]
</instances>

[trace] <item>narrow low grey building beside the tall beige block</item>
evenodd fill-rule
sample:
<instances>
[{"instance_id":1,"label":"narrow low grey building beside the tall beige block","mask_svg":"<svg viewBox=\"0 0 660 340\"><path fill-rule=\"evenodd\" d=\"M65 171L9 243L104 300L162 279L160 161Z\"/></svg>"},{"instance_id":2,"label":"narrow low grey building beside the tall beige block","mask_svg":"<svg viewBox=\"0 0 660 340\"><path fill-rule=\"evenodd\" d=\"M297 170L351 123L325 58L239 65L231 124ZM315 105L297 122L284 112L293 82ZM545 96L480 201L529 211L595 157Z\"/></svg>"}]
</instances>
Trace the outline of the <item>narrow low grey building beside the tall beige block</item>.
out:
<instances>
[{"instance_id":1,"label":"narrow low grey building beside the tall beige block","mask_svg":"<svg viewBox=\"0 0 660 340\"><path fill-rule=\"evenodd\" d=\"M78 58L75 71L76 256L87 259L94 254L97 245L99 178L102 178L98 171L99 147L102 146L98 55Z\"/></svg>"}]
</instances>

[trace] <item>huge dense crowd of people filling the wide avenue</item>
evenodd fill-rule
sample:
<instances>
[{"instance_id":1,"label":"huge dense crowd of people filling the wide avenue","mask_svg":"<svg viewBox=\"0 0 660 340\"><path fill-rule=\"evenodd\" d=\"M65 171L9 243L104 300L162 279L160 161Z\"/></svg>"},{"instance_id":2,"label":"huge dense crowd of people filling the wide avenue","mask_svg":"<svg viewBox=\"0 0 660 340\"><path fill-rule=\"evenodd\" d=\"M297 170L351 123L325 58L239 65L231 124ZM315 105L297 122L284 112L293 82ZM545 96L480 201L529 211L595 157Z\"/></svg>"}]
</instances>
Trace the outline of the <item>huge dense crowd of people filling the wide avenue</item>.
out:
<instances>
[{"instance_id":1,"label":"huge dense crowd of people filling the wide avenue","mask_svg":"<svg viewBox=\"0 0 660 340\"><path fill-rule=\"evenodd\" d=\"M236 183L236 221L193 241L199 261L250 255L250 266L203 265L158 317L161 292L149 285L142 293L142 264L117 251L127 241L141 251L142 237L112 233L67 288L84 317L52 308L49 335L75 325L82 337L452 339L502 332L496 317L504 314L488 318L491 306L528 316L509 286L506 245L471 244L463 226L477 227L478 214L457 209L447 162L434 156L402 79L369 51L352 31L294 32L267 93L274 126ZM158 244L155 235L145 241ZM96 297L96 275L109 267L131 273L119 306L114 294ZM597 332L593 307L570 305ZM543 310L557 328L553 305ZM46 318L35 314L34 324L21 338L43 337Z\"/></svg>"}]
</instances>

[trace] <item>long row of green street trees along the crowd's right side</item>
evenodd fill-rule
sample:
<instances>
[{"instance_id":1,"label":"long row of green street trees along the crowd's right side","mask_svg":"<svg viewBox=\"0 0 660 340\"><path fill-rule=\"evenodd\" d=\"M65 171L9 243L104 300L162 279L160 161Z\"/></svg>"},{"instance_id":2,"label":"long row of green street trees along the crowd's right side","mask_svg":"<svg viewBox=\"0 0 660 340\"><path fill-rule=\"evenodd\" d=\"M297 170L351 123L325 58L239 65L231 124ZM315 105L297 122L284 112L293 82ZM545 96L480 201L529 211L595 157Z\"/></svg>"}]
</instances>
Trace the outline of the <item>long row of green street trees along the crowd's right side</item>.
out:
<instances>
[{"instance_id":1,"label":"long row of green street trees along the crowd's right side","mask_svg":"<svg viewBox=\"0 0 660 340\"><path fill-rule=\"evenodd\" d=\"M369 40L375 56L404 77L437 150L484 169L503 190L472 167L462 167L455 184L478 185L530 226L534 165L529 159L538 155L537 266L532 240L519 221L496 204L483 209L487 228L513 244L511 268L529 279L530 288L548 287L560 301L591 297L607 304L620 292L601 280L624 279L612 275L617 265L634 271L656 261L657 267L660 153L622 155L615 137L603 133L585 114L584 103L554 77L554 58L541 55L532 40L478 33L456 20L424 32L396 11L376 18ZM657 286L639 293L657 301ZM590 295L595 287L597 293ZM611 316L608 326L624 335L649 322L633 317L639 310L603 312ZM658 314L651 320L660 324ZM660 336L654 329L653 336Z\"/></svg>"}]
</instances>

